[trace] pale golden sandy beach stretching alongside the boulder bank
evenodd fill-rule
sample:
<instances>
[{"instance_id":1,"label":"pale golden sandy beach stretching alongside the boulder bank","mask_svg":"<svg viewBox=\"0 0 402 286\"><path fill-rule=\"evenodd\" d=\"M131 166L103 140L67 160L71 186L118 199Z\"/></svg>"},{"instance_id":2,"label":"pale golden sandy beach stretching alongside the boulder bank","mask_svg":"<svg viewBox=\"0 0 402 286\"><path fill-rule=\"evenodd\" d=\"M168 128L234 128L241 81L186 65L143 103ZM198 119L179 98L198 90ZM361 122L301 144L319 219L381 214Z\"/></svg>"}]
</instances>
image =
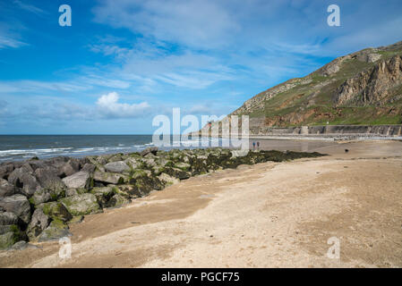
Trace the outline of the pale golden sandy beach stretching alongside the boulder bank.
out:
<instances>
[{"instance_id":1,"label":"pale golden sandy beach stretching alongside the boulder bank","mask_svg":"<svg viewBox=\"0 0 402 286\"><path fill-rule=\"evenodd\" d=\"M402 142L312 150L330 156L191 178L72 225L71 259L47 242L0 266L402 267Z\"/></svg>"}]
</instances>

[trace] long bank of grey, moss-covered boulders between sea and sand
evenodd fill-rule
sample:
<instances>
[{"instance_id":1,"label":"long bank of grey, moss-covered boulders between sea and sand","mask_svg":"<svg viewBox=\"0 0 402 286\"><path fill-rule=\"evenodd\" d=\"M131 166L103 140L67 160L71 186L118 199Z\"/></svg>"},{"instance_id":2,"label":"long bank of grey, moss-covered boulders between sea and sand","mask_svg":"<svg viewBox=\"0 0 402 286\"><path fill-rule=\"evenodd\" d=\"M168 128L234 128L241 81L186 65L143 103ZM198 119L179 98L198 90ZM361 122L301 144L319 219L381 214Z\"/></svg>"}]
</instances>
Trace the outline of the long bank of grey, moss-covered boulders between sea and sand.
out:
<instances>
[{"instance_id":1,"label":"long bank of grey, moss-covered boulders between sea and sand","mask_svg":"<svg viewBox=\"0 0 402 286\"><path fill-rule=\"evenodd\" d=\"M0 164L0 249L23 248L26 241L71 235L70 223L107 207L120 207L153 190L240 164L281 162L319 153L249 151L225 148L66 156Z\"/></svg>"}]
</instances>

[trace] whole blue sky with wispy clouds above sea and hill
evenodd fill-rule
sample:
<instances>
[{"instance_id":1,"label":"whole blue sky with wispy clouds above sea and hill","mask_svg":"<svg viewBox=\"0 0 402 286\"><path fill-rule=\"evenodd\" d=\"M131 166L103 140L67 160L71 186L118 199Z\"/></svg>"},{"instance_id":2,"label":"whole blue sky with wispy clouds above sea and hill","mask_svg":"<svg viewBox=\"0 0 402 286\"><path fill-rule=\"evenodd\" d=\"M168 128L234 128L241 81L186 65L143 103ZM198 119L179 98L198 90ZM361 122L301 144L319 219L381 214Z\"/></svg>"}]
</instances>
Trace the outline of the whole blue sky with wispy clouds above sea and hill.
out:
<instances>
[{"instance_id":1,"label":"whole blue sky with wispy clouds above sea and hill","mask_svg":"<svg viewBox=\"0 0 402 286\"><path fill-rule=\"evenodd\" d=\"M401 12L400 0L1 1L0 134L150 134L172 107L228 114L339 55L402 40Z\"/></svg>"}]
</instances>

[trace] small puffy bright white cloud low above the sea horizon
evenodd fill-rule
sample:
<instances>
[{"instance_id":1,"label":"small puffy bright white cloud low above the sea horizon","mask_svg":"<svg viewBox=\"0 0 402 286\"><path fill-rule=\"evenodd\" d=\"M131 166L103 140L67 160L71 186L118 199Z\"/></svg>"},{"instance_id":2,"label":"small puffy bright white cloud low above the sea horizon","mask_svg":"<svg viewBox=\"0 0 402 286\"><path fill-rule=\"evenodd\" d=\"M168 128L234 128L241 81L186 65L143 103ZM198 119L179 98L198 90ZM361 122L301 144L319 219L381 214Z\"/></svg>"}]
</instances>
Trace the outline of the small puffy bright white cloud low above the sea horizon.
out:
<instances>
[{"instance_id":1,"label":"small puffy bright white cloud low above the sea horizon","mask_svg":"<svg viewBox=\"0 0 402 286\"><path fill-rule=\"evenodd\" d=\"M98 111L106 118L134 118L146 114L150 109L147 102L140 104L122 104L118 102L119 95L116 92L110 92L98 98Z\"/></svg>"}]
</instances>

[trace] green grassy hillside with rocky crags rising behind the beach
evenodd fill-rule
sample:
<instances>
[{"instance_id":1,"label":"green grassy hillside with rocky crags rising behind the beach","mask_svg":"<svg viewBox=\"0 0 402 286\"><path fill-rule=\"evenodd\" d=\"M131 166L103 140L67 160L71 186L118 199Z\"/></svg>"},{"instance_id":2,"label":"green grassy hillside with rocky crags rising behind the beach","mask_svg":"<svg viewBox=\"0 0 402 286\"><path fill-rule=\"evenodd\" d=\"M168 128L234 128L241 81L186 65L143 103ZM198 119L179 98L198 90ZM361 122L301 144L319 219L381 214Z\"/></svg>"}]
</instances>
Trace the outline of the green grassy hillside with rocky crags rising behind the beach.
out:
<instances>
[{"instance_id":1,"label":"green grassy hillside with rocky crags rising behind the beach","mask_svg":"<svg viewBox=\"0 0 402 286\"><path fill-rule=\"evenodd\" d=\"M304 78L287 80L230 115L250 127L402 123L402 41L338 57Z\"/></svg>"}]
</instances>

